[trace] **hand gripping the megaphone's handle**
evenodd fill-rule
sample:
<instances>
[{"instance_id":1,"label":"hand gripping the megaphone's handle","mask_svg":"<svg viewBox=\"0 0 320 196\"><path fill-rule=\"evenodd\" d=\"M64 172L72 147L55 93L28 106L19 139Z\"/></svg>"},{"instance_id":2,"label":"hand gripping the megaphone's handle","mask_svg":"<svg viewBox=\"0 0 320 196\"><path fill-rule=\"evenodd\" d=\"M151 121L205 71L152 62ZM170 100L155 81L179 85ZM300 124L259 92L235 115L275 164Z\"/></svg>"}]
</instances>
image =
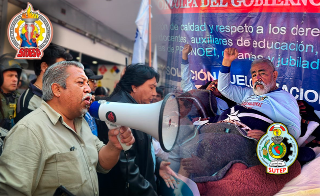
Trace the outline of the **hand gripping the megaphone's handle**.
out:
<instances>
[{"instance_id":1,"label":"hand gripping the megaphone's handle","mask_svg":"<svg viewBox=\"0 0 320 196\"><path fill-rule=\"evenodd\" d=\"M131 133L131 129L128 127L120 127L120 138L121 143L125 144L126 146L130 146L134 143L134 137ZM109 142L113 147L115 147L117 150L123 150L121 147L118 139L116 138L116 135L118 135L119 131L117 129L111 129L108 131L108 138Z\"/></svg>"}]
</instances>

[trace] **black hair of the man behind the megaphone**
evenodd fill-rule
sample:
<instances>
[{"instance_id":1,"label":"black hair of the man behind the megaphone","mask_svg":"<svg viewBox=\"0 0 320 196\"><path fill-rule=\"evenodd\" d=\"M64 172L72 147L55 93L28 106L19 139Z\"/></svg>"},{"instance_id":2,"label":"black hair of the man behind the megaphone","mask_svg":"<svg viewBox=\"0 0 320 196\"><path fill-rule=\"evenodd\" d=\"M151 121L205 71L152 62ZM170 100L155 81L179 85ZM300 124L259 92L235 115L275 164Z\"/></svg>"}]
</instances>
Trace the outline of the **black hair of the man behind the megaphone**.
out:
<instances>
[{"instance_id":1,"label":"black hair of the man behind the megaphone","mask_svg":"<svg viewBox=\"0 0 320 196\"><path fill-rule=\"evenodd\" d=\"M142 63L129 65L120 81L117 83L123 91L132 92L131 85L136 87L141 86L149 79L155 77L156 82L159 81L159 73L152 67L145 66Z\"/></svg>"}]
</instances>

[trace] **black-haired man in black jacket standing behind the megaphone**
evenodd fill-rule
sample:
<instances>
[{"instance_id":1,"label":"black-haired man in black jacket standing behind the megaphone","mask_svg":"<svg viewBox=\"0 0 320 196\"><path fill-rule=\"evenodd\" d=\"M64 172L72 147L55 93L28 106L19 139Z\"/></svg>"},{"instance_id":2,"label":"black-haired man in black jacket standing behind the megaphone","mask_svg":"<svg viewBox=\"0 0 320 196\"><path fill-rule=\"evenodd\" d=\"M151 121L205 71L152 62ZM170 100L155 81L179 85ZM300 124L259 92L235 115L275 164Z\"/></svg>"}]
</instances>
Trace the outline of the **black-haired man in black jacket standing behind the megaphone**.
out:
<instances>
[{"instance_id":1,"label":"black-haired man in black jacket standing behind the megaphone","mask_svg":"<svg viewBox=\"0 0 320 196\"><path fill-rule=\"evenodd\" d=\"M130 65L117 84L116 88L120 90L109 101L149 104L156 95L158 80L159 74L153 68L143 64ZM174 189L173 176L176 175L169 168L170 163L160 158L152 159L151 137L134 129L132 134L135 143L126 151L127 156L122 151L118 163L107 175L98 174L100 195L156 196L154 174Z\"/></svg>"}]
</instances>

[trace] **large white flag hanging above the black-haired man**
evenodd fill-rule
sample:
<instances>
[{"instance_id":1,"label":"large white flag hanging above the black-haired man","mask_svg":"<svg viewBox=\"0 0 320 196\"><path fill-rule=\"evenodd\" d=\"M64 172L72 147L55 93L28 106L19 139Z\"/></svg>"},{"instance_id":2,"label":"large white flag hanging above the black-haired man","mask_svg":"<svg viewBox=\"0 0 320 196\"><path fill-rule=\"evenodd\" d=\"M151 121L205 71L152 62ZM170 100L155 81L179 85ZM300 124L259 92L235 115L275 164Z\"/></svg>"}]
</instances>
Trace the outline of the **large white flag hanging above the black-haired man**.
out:
<instances>
[{"instance_id":1,"label":"large white flag hanging above the black-haired man","mask_svg":"<svg viewBox=\"0 0 320 196\"><path fill-rule=\"evenodd\" d=\"M136 32L133 46L132 63L145 62L145 49L148 42L149 1L142 0L136 17Z\"/></svg>"}]
</instances>

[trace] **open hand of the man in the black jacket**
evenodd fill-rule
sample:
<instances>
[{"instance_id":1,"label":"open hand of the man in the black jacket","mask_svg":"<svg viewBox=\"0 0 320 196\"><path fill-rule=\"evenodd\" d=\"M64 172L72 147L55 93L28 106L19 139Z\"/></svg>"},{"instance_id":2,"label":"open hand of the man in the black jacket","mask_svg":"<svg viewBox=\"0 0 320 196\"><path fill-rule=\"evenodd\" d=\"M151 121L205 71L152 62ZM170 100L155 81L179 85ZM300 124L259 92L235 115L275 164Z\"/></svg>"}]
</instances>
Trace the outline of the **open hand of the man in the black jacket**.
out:
<instances>
[{"instance_id":1,"label":"open hand of the man in the black jacket","mask_svg":"<svg viewBox=\"0 0 320 196\"><path fill-rule=\"evenodd\" d=\"M178 187L175 182L175 179L177 182L180 182L180 180L178 179L178 176L171 170L169 165L170 162L162 161L160 164L159 175L164 180L168 188L171 187L172 189L177 189Z\"/></svg>"}]
</instances>

